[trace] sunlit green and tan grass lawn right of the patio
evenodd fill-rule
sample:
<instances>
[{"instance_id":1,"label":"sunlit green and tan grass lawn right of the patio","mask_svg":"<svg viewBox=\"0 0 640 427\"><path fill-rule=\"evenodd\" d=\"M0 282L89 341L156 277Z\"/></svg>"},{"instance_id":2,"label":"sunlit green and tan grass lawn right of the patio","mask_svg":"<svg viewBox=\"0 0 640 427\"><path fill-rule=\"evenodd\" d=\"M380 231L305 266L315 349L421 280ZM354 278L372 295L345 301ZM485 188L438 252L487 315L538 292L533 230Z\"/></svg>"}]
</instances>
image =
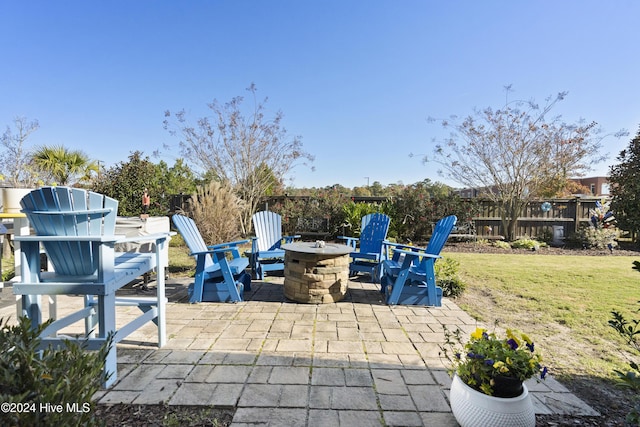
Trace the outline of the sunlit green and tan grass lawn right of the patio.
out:
<instances>
[{"instance_id":1,"label":"sunlit green and tan grass lawn right of the patio","mask_svg":"<svg viewBox=\"0 0 640 427\"><path fill-rule=\"evenodd\" d=\"M555 375L613 378L632 355L608 326L611 311L638 318L638 257L443 253L467 283L456 302L480 322L528 333Z\"/></svg>"}]
</instances>

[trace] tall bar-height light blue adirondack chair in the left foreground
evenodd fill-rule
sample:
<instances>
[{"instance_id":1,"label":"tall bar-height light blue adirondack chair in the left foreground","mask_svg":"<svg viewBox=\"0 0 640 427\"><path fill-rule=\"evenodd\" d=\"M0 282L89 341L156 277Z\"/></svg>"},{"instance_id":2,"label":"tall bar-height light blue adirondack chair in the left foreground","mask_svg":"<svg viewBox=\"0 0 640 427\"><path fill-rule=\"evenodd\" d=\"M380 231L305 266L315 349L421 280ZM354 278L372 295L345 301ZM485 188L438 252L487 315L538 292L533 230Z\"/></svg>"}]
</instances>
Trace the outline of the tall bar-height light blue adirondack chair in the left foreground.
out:
<instances>
[{"instance_id":1,"label":"tall bar-height light blue adirondack chair in the left foreground","mask_svg":"<svg viewBox=\"0 0 640 427\"><path fill-rule=\"evenodd\" d=\"M59 347L69 336L59 331L85 320L89 350L102 346L110 334L113 342L105 361L108 387L117 379L116 343L149 321L158 326L158 346L166 342L165 261L168 233L142 237L116 236L118 201L102 194L68 187L43 187L21 200L35 235L17 236L20 241L21 281L13 293L21 295L21 314L34 327L42 323L41 295L82 295L84 308L51 323L41 334L42 348ZM115 251L116 243L152 242L149 253ZM53 271L41 271L40 245ZM116 297L116 291L136 277L156 269L156 297ZM116 306L137 306L142 314L117 328ZM97 332L96 332L97 328Z\"/></svg>"}]
</instances>

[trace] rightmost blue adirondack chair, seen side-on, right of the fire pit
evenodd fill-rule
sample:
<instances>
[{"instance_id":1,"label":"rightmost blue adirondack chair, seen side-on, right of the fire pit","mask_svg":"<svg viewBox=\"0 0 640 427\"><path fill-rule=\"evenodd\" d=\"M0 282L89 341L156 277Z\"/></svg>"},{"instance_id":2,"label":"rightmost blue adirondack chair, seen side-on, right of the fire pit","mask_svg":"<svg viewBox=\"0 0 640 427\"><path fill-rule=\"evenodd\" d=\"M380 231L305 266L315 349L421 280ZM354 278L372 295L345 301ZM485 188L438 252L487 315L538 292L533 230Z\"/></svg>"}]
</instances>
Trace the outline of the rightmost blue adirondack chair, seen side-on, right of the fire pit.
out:
<instances>
[{"instance_id":1,"label":"rightmost blue adirondack chair, seen side-on, right of the fire pit","mask_svg":"<svg viewBox=\"0 0 640 427\"><path fill-rule=\"evenodd\" d=\"M435 262L451 234L457 218L442 218L436 223L429 244L423 250L407 245L388 243L393 257L383 262L382 291L387 304L442 305L442 288L436 286Z\"/></svg>"}]
</instances>

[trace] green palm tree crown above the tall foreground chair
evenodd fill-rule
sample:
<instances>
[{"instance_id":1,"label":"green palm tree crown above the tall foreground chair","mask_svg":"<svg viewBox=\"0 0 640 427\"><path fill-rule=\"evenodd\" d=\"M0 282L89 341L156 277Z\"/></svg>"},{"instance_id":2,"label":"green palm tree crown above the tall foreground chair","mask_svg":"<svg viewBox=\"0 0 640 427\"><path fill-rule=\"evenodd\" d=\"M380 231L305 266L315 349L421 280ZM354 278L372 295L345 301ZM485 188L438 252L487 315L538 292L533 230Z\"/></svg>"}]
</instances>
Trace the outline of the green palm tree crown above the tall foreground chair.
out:
<instances>
[{"instance_id":1,"label":"green palm tree crown above the tall foreground chair","mask_svg":"<svg viewBox=\"0 0 640 427\"><path fill-rule=\"evenodd\" d=\"M59 185L87 181L92 172L98 172L98 162L80 150L69 150L62 145L39 147L31 159Z\"/></svg>"}]
</instances>

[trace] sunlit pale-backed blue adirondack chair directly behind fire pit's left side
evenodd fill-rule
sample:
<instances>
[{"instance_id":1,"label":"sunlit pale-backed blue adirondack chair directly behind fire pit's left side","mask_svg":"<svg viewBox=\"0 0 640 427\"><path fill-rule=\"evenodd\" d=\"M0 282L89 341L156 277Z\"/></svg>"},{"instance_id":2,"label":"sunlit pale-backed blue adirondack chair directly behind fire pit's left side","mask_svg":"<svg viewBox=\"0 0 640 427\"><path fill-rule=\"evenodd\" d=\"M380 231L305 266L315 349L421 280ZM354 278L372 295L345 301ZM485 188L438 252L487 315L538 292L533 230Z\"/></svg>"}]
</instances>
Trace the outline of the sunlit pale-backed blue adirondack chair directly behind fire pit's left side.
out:
<instances>
[{"instance_id":1,"label":"sunlit pale-backed blue adirondack chair directly behind fire pit's left side","mask_svg":"<svg viewBox=\"0 0 640 427\"><path fill-rule=\"evenodd\" d=\"M256 212L251 217L256 237L251 242L251 271L263 280L268 271L284 270L284 250L280 245L299 239L299 235L282 236L282 217L271 211Z\"/></svg>"}]
</instances>

